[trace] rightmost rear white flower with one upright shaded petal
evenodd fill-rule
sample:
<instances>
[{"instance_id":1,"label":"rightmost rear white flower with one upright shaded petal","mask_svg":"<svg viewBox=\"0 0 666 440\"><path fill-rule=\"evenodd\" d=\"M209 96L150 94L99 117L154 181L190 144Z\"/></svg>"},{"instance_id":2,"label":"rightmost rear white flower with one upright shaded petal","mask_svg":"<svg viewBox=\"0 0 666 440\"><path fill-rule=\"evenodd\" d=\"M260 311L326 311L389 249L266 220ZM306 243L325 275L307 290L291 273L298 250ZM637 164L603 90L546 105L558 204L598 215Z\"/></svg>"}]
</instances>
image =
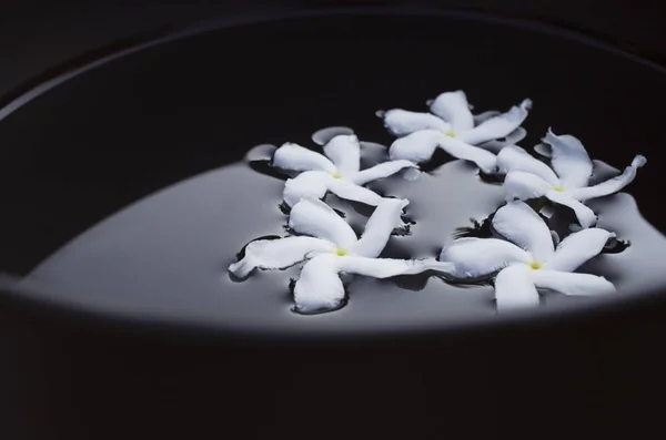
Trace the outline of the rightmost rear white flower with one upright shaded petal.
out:
<instances>
[{"instance_id":1,"label":"rightmost rear white flower with one upright shaded petal","mask_svg":"<svg viewBox=\"0 0 666 440\"><path fill-rule=\"evenodd\" d=\"M593 163L581 141L571 135L557 136L548 130L543 142L549 145L549 153L544 150L544 145L537 151L551 156L553 168L524 151L517 153L517 150L507 147L500 153L500 162L504 154L513 156L512 164L505 166L507 173L504 188L507 198L525 201L546 197L571 207L583 228L594 225L597 219L595 213L583 202L617 193L636 177L636 171L646 163L645 156L637 155L620 175L588 186ZM523 162L515 158L521 154L526 155Z\"/></svg>"}]
</instances>

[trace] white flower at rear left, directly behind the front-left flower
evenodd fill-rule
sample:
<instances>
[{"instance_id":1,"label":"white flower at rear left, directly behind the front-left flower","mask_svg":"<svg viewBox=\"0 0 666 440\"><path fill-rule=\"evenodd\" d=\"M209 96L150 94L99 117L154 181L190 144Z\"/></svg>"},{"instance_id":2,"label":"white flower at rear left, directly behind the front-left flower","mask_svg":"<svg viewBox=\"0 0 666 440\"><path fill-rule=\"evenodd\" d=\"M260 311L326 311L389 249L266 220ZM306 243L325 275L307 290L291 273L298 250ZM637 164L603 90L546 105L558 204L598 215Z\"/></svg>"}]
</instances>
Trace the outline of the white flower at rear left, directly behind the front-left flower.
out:
<instances>
[{"instance_id":1,"label":"white flower at rear left, directly behind the front-left flower","mask_svg":"<svg viewBox=\"0 0 666 440\"><path fill-rule=\"evenodd\" d=\"M285 143L275 151L273 166L301 172L284 184L283 198L290 207L303 196L323 198L329 191L341 198L376 206L383 197L362 185L406 167L417 167L408 161L391 161L360 170L361 144L354 134L336 135L323 150L325 155Z\"/></svg>"}]
</instances>

